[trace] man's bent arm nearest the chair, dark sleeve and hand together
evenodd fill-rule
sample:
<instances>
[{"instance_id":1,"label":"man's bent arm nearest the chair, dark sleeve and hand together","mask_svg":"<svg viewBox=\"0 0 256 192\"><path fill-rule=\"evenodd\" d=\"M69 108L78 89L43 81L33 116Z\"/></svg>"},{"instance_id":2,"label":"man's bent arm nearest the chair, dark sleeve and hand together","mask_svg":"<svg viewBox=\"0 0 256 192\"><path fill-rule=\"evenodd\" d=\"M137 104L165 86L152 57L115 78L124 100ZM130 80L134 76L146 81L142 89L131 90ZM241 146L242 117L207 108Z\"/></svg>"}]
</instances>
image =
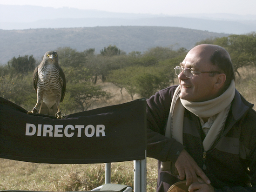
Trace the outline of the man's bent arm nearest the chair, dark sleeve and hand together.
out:
<instances>
[{"instance_id":1,"label":"man's bent arm nearest the chair, dark sleeve and hand together","mask_svg":"<svg viewBox=\"0 0 256 192\"><path fill-rule=\"evenodd\" d=\"M147 142L148 157L160 161L171 161L175 163L179 171L180 179L189 179L187 184L197 181L196 175L200 176L206 183L208 178L197 166L194 159L184 150L184 146L173 138L164 136L166 121L168 119L172 96L176 86L157 92L147 99ZM183 152L182 152L183 150ZM183 164L189 160L185 165ZM190 162L191 160L191 162ZM183 180L182 179L182 180Z\"/></svg>"}]
</instances>

